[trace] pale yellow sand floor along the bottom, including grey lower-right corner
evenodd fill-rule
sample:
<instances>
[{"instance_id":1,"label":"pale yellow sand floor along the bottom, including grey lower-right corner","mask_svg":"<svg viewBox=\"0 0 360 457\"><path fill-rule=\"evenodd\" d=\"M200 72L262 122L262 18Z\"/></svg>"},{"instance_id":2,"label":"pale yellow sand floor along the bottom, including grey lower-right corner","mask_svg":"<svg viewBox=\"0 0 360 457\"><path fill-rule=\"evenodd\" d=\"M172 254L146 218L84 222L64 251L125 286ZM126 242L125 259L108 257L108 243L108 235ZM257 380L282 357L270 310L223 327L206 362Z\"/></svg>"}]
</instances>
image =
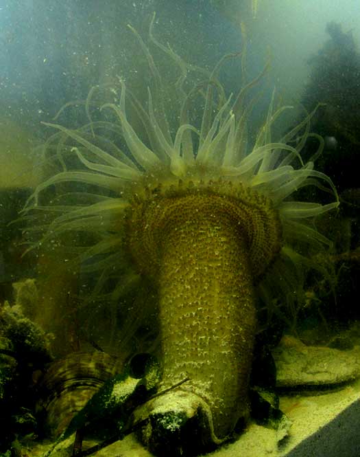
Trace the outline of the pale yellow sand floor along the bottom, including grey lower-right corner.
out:
<instances>
[{"instance_id":1,"label":"pale yellow sand floor along the bottom, including grey lower-right corner","mask_svg":"<svg viewBox=\"0 0 360 457\"><path fill-rule=\"evenodd\" d=\"M276 430L254 423L235 443L224 445L207 457L358 457L360 449L360 380L335 392L280 397L280 409L292 421L287 437L278 442ZM357 442L359 440L359 443ZM51 457L71 455L73 437ZM355 449L353 453L352 449ZM43 446L24 454L40 457ZM70 452L70 454L69 454ZM94 457L152 457L133 434L92 454Z\"/></svg>"}]
</instances>

